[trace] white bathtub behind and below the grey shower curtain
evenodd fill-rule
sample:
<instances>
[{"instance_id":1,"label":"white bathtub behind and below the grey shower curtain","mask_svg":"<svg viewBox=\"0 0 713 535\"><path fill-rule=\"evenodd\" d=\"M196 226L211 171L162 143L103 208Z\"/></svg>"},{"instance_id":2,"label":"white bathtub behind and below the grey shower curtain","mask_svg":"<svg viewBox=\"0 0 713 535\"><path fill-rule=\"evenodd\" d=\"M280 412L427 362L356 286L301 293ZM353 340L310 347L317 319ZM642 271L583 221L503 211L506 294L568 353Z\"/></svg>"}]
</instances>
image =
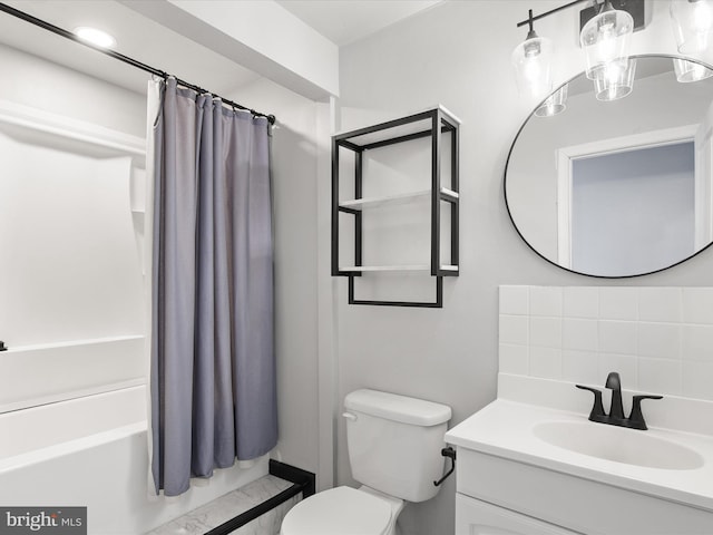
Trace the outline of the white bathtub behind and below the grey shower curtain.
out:
<instances>
[{"instance_id":1,"label":"white bathtub behind and below the grey shower curtain","mask_svg":"<svg viewBox=\"0 0 713 535\"><path fill-rule=\"evenodd\" d=\"M150 496L146 389L124 388L0 415L0 506L86 506L90 535L139 535L268 471L216 470L205 485Z\"/></svg>"}]
</instances>

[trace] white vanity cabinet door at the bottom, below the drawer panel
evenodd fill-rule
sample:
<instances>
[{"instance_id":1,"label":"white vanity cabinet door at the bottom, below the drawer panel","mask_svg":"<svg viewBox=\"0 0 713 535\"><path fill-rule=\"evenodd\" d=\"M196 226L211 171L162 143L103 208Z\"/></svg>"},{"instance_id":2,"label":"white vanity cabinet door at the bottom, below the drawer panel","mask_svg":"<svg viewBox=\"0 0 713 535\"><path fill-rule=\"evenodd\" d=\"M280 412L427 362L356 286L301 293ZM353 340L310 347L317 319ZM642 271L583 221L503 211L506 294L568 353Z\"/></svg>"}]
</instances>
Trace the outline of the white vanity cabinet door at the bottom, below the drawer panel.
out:
<instances>
[{"instance_id":1,"label":"white vanity cabinet door at the bottom, below the drawer panel","mask_svg":"<svg viewBox=\"0 0 713 535\"><path fill-rule=\"evenodd\" d=\"M456 494L456 535L576 535L576 533Z\"/></svg>"}]
</instances>

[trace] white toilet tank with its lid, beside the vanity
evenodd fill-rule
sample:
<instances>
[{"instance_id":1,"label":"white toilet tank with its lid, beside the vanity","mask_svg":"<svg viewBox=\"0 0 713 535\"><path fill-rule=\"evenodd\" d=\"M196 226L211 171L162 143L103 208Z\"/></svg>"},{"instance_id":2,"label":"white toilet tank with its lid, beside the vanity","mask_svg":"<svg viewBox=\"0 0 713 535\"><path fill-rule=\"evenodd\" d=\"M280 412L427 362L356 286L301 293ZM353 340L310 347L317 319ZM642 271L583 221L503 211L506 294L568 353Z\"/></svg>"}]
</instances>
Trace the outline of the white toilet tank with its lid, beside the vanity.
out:
<instances>
[{"instance_id":1,"label":"white toilet tank with its lid, beside the vanity","mask_svg":"<svg viewBox=\"0 0 713 535\"><path fill-rule=\"evenodd\" d=\"M450 407L362 389L344 398L344 408L354 479L408 502L436 496Z\"/></svg>"}]
</instances>

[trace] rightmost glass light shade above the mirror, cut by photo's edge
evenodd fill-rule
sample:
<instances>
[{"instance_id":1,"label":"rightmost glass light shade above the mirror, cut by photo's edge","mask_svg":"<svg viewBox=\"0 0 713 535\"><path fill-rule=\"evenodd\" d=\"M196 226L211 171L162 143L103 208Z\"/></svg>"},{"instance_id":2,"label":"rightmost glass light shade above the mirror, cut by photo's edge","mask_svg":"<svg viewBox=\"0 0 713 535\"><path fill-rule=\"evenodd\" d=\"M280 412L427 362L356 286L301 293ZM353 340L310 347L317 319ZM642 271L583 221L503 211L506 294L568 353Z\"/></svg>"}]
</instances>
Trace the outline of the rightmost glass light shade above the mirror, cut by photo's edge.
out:
<instances>
[{"instance_id":1,"label":"rightmost glass light shade above the mirror, cut by photo's edge","mask_svg":"<svg viewBox=\"0 0 713 535\"><path fill-rule=\"evenodd\" d=\"M713 0L671 0L671 18L681 54L713 46Z\"/></svg>"}]
</instances>

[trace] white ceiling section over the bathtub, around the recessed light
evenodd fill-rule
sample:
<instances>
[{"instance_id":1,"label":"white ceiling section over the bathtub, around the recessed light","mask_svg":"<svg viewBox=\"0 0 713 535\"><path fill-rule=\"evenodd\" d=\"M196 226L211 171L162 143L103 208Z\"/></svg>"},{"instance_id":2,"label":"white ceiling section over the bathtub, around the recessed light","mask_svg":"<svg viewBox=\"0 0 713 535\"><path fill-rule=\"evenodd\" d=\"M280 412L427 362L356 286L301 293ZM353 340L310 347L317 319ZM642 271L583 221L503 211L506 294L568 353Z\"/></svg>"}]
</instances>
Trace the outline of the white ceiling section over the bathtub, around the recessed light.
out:
<instances>
[{"instance_id":1,"label":"white ceiling section over the bathtub, around the recessed light","mask_svg":"<svg viewBox=\"0 0 713 535\"><path fill-rule=\"evenodd\" d=\"M4 0L9 6L66 30L92 26L110 32L116 51L207 87L217 94L257 78L227 58L157 25L114 0ZM0 42L144 93L150 75L92 49L0 12Z\"/></svg>"}]
</instances>

